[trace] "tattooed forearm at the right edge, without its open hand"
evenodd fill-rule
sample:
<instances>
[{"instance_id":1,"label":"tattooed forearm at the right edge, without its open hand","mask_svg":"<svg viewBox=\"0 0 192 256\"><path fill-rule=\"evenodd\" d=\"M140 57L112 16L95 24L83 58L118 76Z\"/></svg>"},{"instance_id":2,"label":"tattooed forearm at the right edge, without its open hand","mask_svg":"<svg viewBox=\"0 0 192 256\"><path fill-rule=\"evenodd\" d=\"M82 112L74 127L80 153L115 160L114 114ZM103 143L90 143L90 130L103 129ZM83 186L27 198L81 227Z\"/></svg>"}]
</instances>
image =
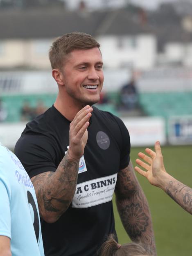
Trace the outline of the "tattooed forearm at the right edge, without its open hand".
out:
<instances>
[{"instance_id":1,"label":"tattooed forearm at the right edge, without its open hand","mask_svg":"<svg viewBox=\"0 0 192 256\"><path fill-rule=\"evenodd\" d=\"M183 209L192 214L192 189L190 187L171 177L165 192Z\"/></svg>"}]
</instances>

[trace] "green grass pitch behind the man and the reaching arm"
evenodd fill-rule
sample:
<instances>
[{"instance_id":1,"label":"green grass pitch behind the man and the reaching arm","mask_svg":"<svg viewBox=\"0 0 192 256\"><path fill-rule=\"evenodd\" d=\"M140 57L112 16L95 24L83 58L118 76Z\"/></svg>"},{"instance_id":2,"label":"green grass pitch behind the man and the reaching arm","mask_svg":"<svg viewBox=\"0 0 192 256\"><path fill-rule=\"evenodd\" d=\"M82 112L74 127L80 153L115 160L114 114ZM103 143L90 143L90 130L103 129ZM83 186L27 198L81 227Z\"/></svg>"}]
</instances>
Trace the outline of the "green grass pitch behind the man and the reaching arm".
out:
<instances>
[{"instance_id":1,"label":"green grass pitch behind the man and the reaching arm","mask_svg":"<svg viewBox=\"0 0 192 256\"><path fill-rule=\"evenodd\" d=\"M131 149L131 160L134 166L137 153L144 150L145 148ZM192 145L165 146L162 147L162 152L167 172L192 188ZM192 255L192 216L178 206L163 190L152 186L145 177L136 175L151 210L158 256ZM115 203L113 206L119 242L130 242L121 224Z\"/></svg>"}]
</instances>

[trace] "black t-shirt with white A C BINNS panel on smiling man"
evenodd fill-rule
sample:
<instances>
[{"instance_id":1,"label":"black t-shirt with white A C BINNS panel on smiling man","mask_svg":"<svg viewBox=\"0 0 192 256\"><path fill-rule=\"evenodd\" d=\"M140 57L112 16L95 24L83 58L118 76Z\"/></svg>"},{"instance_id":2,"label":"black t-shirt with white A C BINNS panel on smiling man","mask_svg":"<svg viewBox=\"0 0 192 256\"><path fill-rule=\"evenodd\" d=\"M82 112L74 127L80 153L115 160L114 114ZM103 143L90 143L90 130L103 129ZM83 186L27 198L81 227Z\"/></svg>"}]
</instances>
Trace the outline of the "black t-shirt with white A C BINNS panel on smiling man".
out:
<instances>
[{"instance_id":1,"label":"black t-shirt with white A C BINNS panel on smiling man","mask_svg":"<svg viewBox=\"0 0 192 256\"><path fill-rule=\"evenodd\" d=\"M91 119L73 201L55 223L41 219L46 256L94 256L115 233L111 199L117 172L129 164L129 133L118 117L96 107ZM68 149L69 126L54 106L27 123L15 153L31 178L56 170Z\"/></svg>"}]
</instances>

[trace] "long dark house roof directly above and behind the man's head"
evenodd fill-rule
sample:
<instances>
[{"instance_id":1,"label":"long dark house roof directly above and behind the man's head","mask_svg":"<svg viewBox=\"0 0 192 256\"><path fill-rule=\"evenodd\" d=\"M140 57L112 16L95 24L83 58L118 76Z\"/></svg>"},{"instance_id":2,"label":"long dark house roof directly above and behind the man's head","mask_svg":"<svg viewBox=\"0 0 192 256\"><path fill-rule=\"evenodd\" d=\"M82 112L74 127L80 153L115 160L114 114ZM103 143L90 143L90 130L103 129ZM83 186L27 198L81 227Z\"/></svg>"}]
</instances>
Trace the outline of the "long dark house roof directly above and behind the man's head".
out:
<instances>
[{"instance_id":1,"label":"long dark house roof directly above and behind the man's head","mask_svg":"<svg viewBox=\"0 0 192 256\"><path fill-rule=\"evenodd\" d=\"M72 31L94 36L148 32L123 9L93 12L64 8L0 10L0 39L52 38Z\"/></svg>"}]
</instances>

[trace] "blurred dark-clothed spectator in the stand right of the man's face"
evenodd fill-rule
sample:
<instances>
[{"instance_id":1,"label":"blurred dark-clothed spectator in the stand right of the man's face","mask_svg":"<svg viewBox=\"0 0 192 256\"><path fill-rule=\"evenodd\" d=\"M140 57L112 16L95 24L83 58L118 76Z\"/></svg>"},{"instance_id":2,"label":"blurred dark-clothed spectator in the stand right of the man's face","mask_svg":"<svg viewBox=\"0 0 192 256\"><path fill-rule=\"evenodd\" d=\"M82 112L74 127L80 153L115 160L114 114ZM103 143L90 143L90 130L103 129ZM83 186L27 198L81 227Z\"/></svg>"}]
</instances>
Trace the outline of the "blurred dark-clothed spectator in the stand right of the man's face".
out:
<instances>
[{"instance_id":1,"label":"blurred dark-clothed spectator in the stand right of the man's face","mask_svg":"<svg viewBox=\"0 0 192 256\"><path fill-rule=\"evenodd\" d=\"M138 107L138 91L134 74L131 80L121 88L120 107L123 110L134 110Z\"/></svg>"}]
</instances>

